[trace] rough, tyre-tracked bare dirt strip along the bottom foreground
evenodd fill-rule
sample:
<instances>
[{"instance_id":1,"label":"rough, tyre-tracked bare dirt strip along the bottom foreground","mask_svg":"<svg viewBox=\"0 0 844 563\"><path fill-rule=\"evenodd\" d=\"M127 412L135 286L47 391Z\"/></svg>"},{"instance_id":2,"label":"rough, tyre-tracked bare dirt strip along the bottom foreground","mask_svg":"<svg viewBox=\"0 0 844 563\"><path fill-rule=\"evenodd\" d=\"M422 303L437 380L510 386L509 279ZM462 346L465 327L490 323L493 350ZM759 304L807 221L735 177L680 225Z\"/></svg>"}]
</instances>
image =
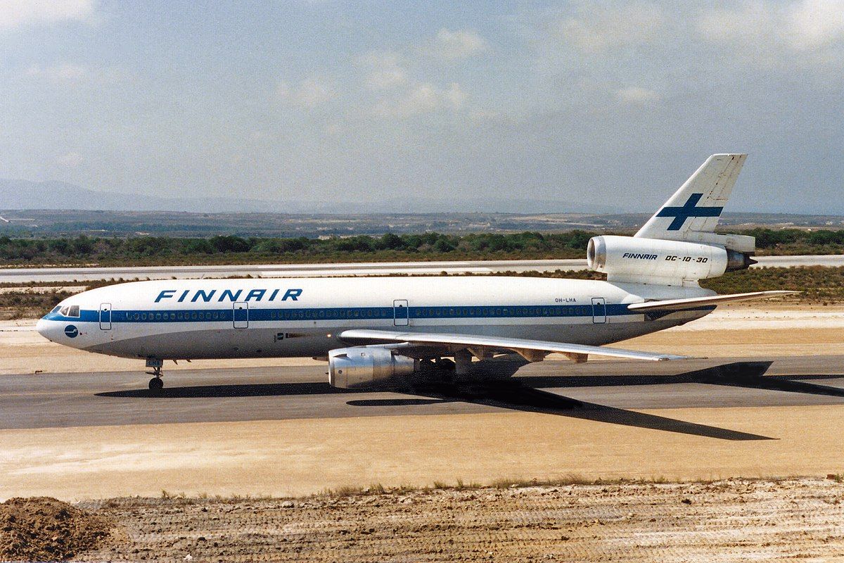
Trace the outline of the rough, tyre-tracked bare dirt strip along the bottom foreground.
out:
<instances>
[{"instance_id":1,"label":"rough, tyre-tracked bare dirt strip along the bottom foreground","mask_svg":"<svg viewBox=\"0 0 844 563\"><path fill-rule=\"evenodd\" d=\"M842 500L816 479L114 499L86 505L117 526L79 559L834 561Z\"/></svg>"}]
</instances>

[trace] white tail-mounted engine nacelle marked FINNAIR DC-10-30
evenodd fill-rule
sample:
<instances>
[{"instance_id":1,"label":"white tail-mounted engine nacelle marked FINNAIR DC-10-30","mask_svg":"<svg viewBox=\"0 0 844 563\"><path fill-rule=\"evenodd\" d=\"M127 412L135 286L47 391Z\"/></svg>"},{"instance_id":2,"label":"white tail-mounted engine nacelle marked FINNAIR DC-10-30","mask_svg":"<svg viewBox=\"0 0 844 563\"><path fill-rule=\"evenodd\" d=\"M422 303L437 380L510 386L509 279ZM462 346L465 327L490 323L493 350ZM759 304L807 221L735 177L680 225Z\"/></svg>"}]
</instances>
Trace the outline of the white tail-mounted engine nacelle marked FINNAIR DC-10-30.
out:
<instances>
[{"instance_id":1,"label":"white tail-mounted engine nacelle marked FINNAIR DC-10-30","mask_svg":"<svg viewBox=\"0 0 844 563\"><path fill-rule=\"evenodd\" d=\"M681 285L749 268L754 260L716 244L603 235L589 241L587 262L609 281Z\"/></svg>"}]
</instances>

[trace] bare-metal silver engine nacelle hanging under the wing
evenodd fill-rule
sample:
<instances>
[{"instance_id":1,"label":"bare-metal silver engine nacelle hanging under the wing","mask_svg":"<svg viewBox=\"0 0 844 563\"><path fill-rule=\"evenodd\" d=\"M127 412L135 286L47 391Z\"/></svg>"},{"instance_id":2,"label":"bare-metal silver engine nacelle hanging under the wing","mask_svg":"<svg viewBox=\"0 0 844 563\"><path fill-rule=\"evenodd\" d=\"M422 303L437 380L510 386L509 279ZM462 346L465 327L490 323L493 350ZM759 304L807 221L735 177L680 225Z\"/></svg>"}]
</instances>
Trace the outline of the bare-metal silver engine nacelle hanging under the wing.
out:
<instances>
[{"instance_id":1,"label":"bare-metal silver engine nacelle hanging under the wing","mask_svg":"<svg viewBox=\"0 0 844 563\"><path fill-rule=\"evenodd\" d=\"M339 348L328 352L328 382L333 387L366 387L393 376L417 371L417 360L376 346Z\"/></svg>"}]
</instances>

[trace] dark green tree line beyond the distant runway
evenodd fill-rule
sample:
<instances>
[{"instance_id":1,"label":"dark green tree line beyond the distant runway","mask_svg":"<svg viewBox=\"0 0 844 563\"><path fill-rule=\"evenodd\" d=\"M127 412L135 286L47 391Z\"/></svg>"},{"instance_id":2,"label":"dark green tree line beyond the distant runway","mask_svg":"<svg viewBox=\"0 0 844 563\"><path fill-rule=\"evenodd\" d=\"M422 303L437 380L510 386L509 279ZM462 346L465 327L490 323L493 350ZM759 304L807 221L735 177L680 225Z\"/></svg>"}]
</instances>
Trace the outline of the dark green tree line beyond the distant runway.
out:
<instances>
[{"instance_id":1,"label":"dark green tree line beyond the distant runway","mask_svg":"<svg viewBox=\"0 0 844 563\"><path fill-rule=\"evenodd\" d=\"M5 264L100 263L259 263L360 260L436 260L469 258L584 257L587 242L600 233L422 233L356 235L313 239L218 235L12 238L0 236ZM830 254L844 252L844 230L752 229L760 254Z\"/></svg>"}]
</instances>

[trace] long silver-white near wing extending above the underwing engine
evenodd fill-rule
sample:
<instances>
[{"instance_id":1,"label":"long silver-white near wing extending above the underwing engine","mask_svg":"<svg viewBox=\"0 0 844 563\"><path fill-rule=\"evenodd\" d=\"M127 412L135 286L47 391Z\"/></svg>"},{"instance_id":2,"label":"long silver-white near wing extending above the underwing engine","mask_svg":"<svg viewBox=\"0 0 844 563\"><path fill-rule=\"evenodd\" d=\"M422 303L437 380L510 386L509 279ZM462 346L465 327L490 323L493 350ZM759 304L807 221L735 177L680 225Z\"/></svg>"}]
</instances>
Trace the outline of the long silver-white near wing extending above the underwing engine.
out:
<instances>
[{"instance_id":1,"label":"long silver-white near wing extending above the underwing engine","mask_svg":"<svg viewBox=\"0 0 844 563\"><path fill-rule=\"evenodd\" d=\"M475 334L446 334L446 333L410 333L390 330L369 330L352 328L340 333L345 341L363 341L402 343L408 345L424 345L447 349L467 348L473 350L507 350L517 352L528 361L544 358L551 352L558 352L570 360L586 361L587 355L601 355L612 358L626 358L629 360L683 360L685 356L653 354L651 352L637 352L618 348L604 348L603 346L589 346L587 344L565 344L545 342L544 340L527 340L524 338L503 338L497 336L478 336ZM474 353L474 352L473 352ZM476 354L477 355L477 354Z\"/></svg>"}]
</instances>

